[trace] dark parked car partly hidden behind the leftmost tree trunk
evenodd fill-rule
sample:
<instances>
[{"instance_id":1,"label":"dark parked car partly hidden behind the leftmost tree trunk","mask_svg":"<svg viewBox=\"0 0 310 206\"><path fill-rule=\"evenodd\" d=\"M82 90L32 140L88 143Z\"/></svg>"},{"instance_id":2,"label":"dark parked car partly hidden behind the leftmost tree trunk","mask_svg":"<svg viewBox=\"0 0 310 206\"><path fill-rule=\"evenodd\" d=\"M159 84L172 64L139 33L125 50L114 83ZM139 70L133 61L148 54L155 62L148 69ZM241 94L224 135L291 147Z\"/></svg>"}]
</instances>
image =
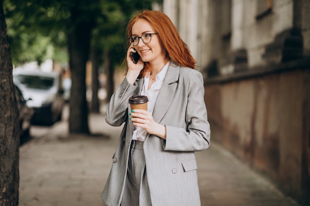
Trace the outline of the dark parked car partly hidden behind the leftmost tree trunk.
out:
<instances>
[{"instance_id":1,"label":"dark parked car partly hidden behind the leftmost tree trunk","mask_svg":"<svg viewBox=\"0 0 310 206\"><path fill-rule=\"evenodd\" d=\"M19 113L19 136L29 136L31 127L31 120L33 116L33 109L27 106L26 100L21 93L20 89L15 87L15 98L17 101L18 113Z\"/></svg>"}]
</instances>

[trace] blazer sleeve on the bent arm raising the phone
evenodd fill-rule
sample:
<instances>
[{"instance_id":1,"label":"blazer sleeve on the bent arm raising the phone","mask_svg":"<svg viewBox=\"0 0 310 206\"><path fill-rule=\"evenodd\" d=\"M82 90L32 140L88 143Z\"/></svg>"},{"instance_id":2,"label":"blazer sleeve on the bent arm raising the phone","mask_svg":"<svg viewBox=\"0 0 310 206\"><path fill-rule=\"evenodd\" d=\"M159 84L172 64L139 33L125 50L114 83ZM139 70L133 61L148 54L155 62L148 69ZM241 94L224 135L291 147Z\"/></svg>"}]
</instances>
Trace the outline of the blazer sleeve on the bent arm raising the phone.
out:
<instances>
[{"instance_id":1,"label":"blazer sleeve on the bent arm raising the phone","mask_svg":"<svg viewBox=\"0 0 310 206\"><path fill-rule=\"evenodd\" d=\"M137 85L137 82L132 85L124 78L123 82L111 96L110 102L106 107L105 121L107 124L120 126L126 121L128 117L128 99L135 92Z\"/></svg>"}]
</instances>

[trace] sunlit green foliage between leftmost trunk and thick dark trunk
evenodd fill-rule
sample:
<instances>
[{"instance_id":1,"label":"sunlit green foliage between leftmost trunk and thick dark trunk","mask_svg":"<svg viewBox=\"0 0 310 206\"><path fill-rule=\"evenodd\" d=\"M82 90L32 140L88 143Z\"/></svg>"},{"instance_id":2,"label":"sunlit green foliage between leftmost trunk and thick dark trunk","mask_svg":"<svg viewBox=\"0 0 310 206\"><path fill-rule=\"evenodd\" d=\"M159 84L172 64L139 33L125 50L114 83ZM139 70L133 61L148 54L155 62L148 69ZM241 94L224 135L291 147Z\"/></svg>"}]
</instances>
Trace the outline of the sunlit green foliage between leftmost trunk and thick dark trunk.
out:
<instances>
[{"instance_id":1,"label":"sunlit green foliage between leftmost trunk and thick dark trunk","mask_svg":"<svg viewBox=\"0 0 310 206\"><path fill-rule=\"evenodd\" d=\"M4 0L3 7L13 64L67 61L64 20L69 13L59 2Z\"/></svg>"}]
</instances>

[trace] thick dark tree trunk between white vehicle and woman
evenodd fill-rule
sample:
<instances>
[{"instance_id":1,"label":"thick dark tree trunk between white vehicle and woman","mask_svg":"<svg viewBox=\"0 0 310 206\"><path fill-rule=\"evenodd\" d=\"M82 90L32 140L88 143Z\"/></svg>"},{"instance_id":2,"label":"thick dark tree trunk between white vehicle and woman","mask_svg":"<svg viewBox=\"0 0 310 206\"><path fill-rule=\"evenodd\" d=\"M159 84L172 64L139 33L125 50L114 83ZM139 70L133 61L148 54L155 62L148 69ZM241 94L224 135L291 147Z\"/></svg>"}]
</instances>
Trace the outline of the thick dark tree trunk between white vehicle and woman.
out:
<instances>
[{"instance_id":1,"label":"thick dark tree trunk between white vehicle and woman","mask_svg":"<svg viewBox=\"0 0 310 206\"><path fill-rule=\"evenodd\" d=\"M82 21L82 11L71 8L68 22L69 64L71 69L71 98L69 133L89 133L86 101L86 62L89 57L91 23Z\"/></svg>"}]
</instances>

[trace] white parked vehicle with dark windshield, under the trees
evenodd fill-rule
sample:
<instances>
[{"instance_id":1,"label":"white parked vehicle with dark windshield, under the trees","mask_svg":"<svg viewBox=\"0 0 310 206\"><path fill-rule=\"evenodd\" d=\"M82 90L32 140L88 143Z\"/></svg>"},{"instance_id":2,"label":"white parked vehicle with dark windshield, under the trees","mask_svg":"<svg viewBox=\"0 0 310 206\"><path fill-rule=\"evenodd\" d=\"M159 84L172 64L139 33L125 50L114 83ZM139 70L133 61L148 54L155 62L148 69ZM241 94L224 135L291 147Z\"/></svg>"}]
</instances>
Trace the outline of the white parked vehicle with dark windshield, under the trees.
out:
<instances>
[{"instance_id":1,"label":"white parked vehicle with dark windshield, under the trees","mask_svg":"<svg viewBox=\"0 0 310 206\"><path fill-rule=\"evenodd\" d=\"M63 89L57 72L13 70L13 81L17 84L34 110L33 124L52 125L61 120L64 105Z\"/></svg>"}]
</instances>

